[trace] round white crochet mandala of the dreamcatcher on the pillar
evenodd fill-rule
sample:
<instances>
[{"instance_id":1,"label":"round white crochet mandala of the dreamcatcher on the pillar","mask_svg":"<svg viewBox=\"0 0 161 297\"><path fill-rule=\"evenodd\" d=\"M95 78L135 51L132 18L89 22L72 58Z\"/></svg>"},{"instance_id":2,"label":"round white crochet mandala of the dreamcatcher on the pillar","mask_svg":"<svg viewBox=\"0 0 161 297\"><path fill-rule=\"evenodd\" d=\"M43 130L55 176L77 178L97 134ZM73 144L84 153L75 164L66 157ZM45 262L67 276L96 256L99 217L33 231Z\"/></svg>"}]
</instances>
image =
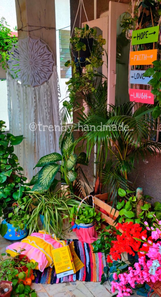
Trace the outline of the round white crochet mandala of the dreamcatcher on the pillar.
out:
<instances>
[{"instance_id":1,"label":"round white crochet mandala of the dreamcatcher on the pillar","mask_svg":"<svg viewBox=\"0 0 161 297\"><path fill-rule=\"evenodd\" d=\"M12 77L22 85L40 86L53 73L53 54L40 39L20 38L9 51L7 61Z\"/></svg>"}]
</instances>

